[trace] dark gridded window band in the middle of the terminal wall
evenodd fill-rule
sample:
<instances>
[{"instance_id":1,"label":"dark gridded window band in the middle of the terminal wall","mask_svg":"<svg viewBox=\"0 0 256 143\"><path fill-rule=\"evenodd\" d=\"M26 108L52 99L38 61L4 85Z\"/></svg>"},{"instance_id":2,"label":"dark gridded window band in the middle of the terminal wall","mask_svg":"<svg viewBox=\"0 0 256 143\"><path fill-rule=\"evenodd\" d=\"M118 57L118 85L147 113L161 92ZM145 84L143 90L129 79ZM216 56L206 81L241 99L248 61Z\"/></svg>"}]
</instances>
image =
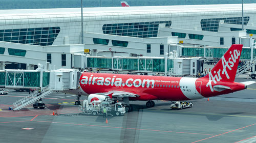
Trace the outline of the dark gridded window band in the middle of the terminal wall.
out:
<instances>
[{"instance_id":1,"label":"dark gridded window band in the middle of the terminal wall","mask_svg":"<svg viewBox=\"0 0 256 143\"><path fill-rule=\"evenodd\" d=\"M157 37L159 24L161 23L165 23L165 27L169 27L172 24L172 21L104 24L102 26L102 31L103 34L120 36L140 38Z\"/></svg>"}]
</instances>

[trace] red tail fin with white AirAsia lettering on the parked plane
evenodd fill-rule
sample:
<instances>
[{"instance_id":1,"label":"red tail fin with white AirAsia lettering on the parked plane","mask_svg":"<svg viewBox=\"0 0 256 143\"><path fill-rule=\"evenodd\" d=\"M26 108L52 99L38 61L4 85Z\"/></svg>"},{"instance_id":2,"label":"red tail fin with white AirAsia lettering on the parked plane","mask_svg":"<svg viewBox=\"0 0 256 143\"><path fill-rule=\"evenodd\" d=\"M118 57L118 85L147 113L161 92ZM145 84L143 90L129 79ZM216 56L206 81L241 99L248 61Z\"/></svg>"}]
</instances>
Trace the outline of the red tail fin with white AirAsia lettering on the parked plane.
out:
<instances>
[{"instance_id":1,"label":"red tail fin with white AirAsia lettering on the parked plane","mask_svg":"<svg viewBox=\"0 0 256 143\"><path fill-rule=\"evenodd\" d=\"M238 63L242 53L243 45L231 45L220 61L209 73L202 77L213 81L230 81L233 82L237 74Z\"/></svg>"}]
</instances>

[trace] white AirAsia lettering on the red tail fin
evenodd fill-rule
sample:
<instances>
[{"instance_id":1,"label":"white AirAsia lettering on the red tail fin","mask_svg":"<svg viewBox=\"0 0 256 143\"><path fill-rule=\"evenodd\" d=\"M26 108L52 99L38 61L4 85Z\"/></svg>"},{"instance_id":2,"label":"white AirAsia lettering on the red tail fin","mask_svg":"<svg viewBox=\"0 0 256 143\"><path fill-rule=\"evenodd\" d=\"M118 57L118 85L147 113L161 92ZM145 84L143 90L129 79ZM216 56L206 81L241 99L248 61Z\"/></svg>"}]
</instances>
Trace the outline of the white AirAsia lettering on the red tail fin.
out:
<instances>
[{"instance_id":1,"label":"white AirAsia lettering on the red tail fin","mask_svg":"<svg viewBox=\"0 0 256 143\"><path fill-rule=\"evenodd\" d=\"M223 67L223 70L221 71L221 69L213 71L214 75L212 75L212 71L209 72L209 81L206 84L206 87L210 87L211 92L214 92L214 89L212 88L211 82L214 82L215 84L217 83L217 81L220 81L222 79L222 75L226 76L227 79L229 79L229 74L228 74L228 70L232 70L232 67L234 66L234 63L237 62L237 60L239 59L240 56L240 51L239 50L233 50L229 52L230 54L230 58L226 61L226 59L224 58L224 56L222 56L221 58L221 64Z\"/></svg>"}]
</instances>

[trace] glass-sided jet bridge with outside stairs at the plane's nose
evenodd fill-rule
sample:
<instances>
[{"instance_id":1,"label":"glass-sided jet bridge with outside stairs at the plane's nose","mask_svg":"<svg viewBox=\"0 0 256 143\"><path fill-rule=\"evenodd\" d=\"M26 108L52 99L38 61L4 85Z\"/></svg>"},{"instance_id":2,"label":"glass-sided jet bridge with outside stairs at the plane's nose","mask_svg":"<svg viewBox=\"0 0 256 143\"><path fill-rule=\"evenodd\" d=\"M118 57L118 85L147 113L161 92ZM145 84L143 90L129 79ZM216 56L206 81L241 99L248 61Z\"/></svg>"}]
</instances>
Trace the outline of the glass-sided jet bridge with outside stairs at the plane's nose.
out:
<instances>
[{"instance_id":1,"label":"glass-sided jet bridge with outside stairs at the plane's nose","mask_svg":"<svg viewBox=\"0 0 256 143\"><path fill-rule=\"evenodd\" d=\"M74 69L3 70L0 71L0 87L39 89L16 102L13 110L19 110L50 94L52 91L77 89L80 72Z\"/></svg>"}]
</instances>

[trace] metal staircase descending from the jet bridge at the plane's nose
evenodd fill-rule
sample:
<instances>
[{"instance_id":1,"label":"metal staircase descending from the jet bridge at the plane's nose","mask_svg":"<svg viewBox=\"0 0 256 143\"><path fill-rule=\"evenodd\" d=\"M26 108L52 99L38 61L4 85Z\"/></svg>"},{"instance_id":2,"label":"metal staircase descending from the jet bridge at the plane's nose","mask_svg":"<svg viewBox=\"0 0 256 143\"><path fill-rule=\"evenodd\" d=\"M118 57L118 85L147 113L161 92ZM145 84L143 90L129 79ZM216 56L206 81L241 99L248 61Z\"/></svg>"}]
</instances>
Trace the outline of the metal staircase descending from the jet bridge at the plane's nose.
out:
<instances>
[{"instance_id":1,"label":"metal staircase descending from the jet bridge at the plane's nose","mask_svg":"<svg viewBox=\"0 0 256 143\"><path fill-rule=\"evenodd\" d=\"M15 107L13 110L19 110L29 104L34 103L35 101L39 100L42 97L45 97L46 95L50 94L53 92L50 88L49 85L41 89L41 94L39 95L38 90L34 91L33 94L30 94L16 102L13 103L13 106Z\"/></svg>"}]
</instances>

